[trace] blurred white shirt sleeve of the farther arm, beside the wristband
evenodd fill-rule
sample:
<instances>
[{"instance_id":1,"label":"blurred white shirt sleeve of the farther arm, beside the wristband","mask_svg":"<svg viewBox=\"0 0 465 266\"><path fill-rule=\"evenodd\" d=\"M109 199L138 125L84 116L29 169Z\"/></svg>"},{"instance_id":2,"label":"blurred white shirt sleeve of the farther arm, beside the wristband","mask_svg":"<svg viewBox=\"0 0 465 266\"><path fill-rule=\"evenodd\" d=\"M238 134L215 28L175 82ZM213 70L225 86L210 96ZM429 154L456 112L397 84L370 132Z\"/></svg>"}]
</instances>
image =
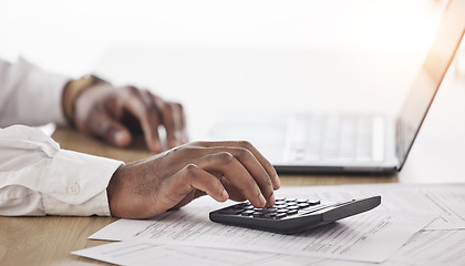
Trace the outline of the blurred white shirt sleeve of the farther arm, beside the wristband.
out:
<instances>
[{"instance_id":1,"label":"blurred white shirt sleeve of the farther arm, beside the wristband","mask_svg":"<svg viewBox=\"0 0 465 266\"><path fill-rule=\"evenodd\" d=\"M64 124L62 92L69 81L23 59L14 64L0 60L0 127Z\"/></svg>"}]
</instances>

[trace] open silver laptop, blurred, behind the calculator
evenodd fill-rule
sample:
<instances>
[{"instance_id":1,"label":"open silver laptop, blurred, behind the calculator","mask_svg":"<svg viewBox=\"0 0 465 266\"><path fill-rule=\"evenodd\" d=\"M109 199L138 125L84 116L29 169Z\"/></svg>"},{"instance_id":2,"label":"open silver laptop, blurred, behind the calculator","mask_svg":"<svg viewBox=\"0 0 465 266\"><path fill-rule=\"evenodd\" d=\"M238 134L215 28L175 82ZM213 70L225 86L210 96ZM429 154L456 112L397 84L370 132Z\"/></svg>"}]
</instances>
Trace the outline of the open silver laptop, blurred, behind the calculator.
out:
<instances>
[{"instance_id":1,"label":"open silver laptop, blurred, behind the calculator","mask_svg":"<svg viewBox=\"0 0 465 266\"><path fill-rule=\"evenodd\" d=\"M394 173L405 163L465 32L465 1L444 9L396 117L351 113L221 113L214 140L250 141L279 173Z\"/></svg>"}]
</instances>

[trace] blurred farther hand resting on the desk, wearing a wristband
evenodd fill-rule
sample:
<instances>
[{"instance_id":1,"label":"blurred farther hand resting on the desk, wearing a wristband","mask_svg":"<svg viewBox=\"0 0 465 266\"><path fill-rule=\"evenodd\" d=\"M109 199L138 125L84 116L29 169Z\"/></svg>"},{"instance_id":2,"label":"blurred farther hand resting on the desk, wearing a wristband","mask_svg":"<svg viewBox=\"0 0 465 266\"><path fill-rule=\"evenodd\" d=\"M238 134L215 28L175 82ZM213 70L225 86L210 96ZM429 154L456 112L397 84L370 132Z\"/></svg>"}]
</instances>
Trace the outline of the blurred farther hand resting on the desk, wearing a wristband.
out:
<instances>
[{"instance_id":1,"label":"blurred farther hand resting on the desk, wearing a wristband","mask_svg":"<svg viewBox=\"0 0 465 266\"><path fill-rule=\"evenodd\" d=\"M74 102L73 122L80 131L121 147L142 131L148 149L163 152L158 126L165 126L168 147L187 142L183 106L134 86L101 82L84 90Z\"/></svg>"}]
</instances>

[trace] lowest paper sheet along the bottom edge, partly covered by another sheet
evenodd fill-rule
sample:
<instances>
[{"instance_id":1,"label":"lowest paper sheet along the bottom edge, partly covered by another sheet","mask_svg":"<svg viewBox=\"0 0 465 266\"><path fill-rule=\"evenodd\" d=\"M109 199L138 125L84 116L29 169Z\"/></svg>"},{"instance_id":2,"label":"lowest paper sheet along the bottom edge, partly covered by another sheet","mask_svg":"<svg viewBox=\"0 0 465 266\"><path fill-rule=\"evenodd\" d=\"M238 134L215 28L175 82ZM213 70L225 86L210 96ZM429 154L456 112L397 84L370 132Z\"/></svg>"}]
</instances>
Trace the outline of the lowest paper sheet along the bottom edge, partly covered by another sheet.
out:
<instances>
[{"instance_id":1,"label":"lowest paper sheet along the bottom edge, partly covered by another sheet","mask_svg":"<svg viewBox=\"0 0 465 266\"><path fill-rule=\"evenodd\" d=\"M166 246L144 241L125 241L73 252L75 255L127 266L172 264L247 266L368 266L370 263L332 260L268 253L246 253L183 246ZM417 233L382 264L396 266L465 265L465 231L425 231Z\"/></svg>"}]
</instances>

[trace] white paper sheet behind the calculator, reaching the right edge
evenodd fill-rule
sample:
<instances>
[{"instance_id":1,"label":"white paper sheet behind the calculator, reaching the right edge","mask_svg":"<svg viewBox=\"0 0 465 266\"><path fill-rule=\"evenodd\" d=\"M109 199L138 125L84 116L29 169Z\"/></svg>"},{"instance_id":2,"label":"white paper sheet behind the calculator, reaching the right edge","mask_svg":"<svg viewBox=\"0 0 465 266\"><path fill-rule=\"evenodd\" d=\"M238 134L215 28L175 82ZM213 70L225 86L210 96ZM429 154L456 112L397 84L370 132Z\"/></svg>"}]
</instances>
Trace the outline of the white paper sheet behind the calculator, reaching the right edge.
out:
<instances>
[{"instance_id":1,"label":"white paper sheet behind the calculator, reaching the right edge","mask_svg":"<svg viewBox=\"0 0 465 266\"><path fill-rule=\"evenodd\" d=\"M405 214L428 213L438 216L426 227L427 229L465 228L465 183L300 186L283 187L280 193L328 201L381 195L382 203L378 209Z\"/></svg>"}]
</instances>

